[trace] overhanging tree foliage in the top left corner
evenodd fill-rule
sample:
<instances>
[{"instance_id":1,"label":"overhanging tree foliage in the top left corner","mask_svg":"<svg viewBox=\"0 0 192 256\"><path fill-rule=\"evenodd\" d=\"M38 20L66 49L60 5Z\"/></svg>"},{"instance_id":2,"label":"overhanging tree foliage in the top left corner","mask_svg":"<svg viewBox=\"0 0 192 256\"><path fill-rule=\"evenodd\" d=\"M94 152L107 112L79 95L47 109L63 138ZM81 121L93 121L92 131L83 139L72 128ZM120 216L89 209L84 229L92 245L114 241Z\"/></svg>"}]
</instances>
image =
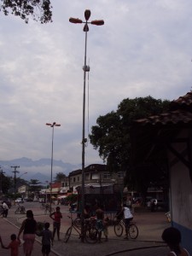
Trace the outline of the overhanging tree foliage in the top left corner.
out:
<instances>
[{"instance_id":1,"label":"overhanging tree foliage in the top left corner","mask_svg":"<svg viewBox=\"0 0 192 256\"><path fill-rule=\"evenodd\" d=\"M52 21L52 6L49 0L1 0L0 11L4 15L20 16L28 23L29 17L33 20L47 23Z\"/></svg>"}]
</instances>

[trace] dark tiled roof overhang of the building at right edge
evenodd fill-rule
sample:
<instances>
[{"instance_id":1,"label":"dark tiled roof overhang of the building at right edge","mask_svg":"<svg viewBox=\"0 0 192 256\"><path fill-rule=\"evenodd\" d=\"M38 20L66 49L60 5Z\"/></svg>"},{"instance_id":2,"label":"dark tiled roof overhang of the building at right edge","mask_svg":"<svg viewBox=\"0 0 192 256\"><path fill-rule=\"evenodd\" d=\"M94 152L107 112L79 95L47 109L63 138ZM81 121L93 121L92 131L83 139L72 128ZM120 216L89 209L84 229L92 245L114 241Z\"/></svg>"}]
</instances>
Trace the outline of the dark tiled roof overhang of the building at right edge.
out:
<instances>
[{"instance_id":1,"label":"dark tiled roof overhang of the building at right edge","mask_svg":"<svg viewBox=\"0 0 192 256\"><path fill-rule=\"evenodd\" d=\"M192 128L192 92L172 101L166 113L134 121L131 126L133 162L142 162L148 154L164 150L164 145L183 128Z\"/></svg>"}]
</instances>

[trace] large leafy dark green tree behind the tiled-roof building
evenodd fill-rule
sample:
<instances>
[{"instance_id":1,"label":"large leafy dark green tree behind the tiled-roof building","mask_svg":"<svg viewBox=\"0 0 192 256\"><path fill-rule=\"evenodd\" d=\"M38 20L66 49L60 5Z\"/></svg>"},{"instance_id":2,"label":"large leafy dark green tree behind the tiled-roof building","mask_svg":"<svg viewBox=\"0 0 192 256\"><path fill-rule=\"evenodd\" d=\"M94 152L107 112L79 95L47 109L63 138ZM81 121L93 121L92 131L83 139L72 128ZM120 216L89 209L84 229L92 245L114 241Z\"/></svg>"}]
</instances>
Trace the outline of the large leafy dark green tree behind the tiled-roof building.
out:
<instances>
[{"instance_id":1,"label":"large leafy dark green tree behind the tiled-roof building","mask_svg":"<svg viewBox=\"0 0 192 256\"><path fill-rule=\"evenodd\" d=\"M112 172L125 171L126 184L146 189L150 178L143 179L131 172L131 125L135 119L158 115L169 108L167 100L156 100L151 96L124 99L116 112L107 113L96 120L91 127L90 143L98 149L99 155ZM161 172L160 172L161 173ZM160 176L156 176L158 179Z\"/></svg>"}]
</instances>

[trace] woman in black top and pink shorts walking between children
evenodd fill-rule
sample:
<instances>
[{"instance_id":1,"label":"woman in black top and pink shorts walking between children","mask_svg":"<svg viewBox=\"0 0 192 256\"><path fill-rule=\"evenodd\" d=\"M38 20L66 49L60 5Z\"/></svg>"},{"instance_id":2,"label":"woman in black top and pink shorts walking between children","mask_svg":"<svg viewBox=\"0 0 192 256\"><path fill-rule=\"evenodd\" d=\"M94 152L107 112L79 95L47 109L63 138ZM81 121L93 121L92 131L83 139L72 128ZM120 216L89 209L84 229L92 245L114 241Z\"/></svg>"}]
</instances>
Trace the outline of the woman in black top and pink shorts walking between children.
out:
<instances>
[{"instance_id":1,"label":"woman in black top and pink shorts walking between children","mask_svg":"<svg viewBox=\"0 0 192 256\"><path fill-rule=\"evenodd\" d=\"M23 232L23 251L26 256L31 256L33 244L35 241L35 232L37 230L37 222L33 218L32 210L26 211L26 219L22 222L19 234L17 236L20 239L20 234Z\"/></svg>"}]
</instances>

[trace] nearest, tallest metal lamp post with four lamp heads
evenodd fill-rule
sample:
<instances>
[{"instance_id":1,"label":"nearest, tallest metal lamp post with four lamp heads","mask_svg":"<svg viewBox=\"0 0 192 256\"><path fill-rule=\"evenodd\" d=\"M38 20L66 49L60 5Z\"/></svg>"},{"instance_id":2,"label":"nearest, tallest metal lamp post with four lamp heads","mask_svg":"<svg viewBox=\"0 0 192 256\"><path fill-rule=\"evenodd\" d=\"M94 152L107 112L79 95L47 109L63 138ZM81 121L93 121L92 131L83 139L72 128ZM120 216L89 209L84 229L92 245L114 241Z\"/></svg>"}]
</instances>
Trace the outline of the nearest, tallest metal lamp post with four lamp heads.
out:
<instances>
[{"instance_id":1,"label":"nearest, tallest metal lamp post with four lamp heads","mask_svg":"<svg viewBox=\"0 0 192 256\"><path fill-rule=\"evenodd\" d=\"M86 63L86 54L87 54L87 32L89 32L89 26L88 24L91 25L96 25L96 26L102 26L104 25L104 20L91 20L90 22L88 21L90 19L90 10L86 9L84 11L84 19L80 20L79 18L70 18L69 21L75 24L81 24L84 23L84 32L85 32L85 44L84 44L84 93L83 93L83 129L82 129L82 188L81 188L81 234L82 234L82 241L84 241L84 148L85 148L85 143L87 139L84 137L84 124L85 124L85 88L86 88L86 72L90 71L90 67L87 66Z\"/></svg>"}]
</instances>

